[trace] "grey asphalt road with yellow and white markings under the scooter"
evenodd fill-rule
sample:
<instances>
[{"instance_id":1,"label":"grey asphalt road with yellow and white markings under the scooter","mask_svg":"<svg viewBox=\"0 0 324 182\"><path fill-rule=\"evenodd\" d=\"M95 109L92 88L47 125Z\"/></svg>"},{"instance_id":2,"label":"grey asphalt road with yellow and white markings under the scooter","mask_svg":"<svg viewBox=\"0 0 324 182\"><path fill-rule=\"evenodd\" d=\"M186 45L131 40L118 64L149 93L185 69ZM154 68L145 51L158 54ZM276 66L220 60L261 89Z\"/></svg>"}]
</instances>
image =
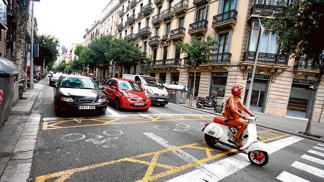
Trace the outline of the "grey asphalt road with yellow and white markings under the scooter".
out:
<instances>
[{"instance_id":1,"label":"grey asphalt road with yellow and white markings under the scooter","mask_svg":"<svg viewBox=\"0 0 324 182\"><path fill-rule=\"evenodd\" d=\"M58 118L52 87L44 86L33 113L41 124L30 181L309 181L324 179L324 145L258 127L271 147L258 167L247 155L204 142L201 129L213 115L176 104L145 112Z\"/></svg>"}]
</instances>

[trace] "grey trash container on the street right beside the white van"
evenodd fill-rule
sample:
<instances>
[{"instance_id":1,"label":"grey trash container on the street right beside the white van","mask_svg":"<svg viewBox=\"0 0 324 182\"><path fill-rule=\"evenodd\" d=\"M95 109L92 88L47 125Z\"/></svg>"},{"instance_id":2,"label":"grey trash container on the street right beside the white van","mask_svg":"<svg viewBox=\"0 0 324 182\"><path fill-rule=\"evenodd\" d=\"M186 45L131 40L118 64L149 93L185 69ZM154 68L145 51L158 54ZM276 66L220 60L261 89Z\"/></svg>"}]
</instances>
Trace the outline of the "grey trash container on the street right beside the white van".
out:
<instances>
[{"instance_id":1,"label":"grey trash container on the street right beside the white van","mask_svg":"<svg viewBox=\"0 0 324 182\"><path fill-rule=\"evenodd\" d=\"M166 88L169 94L169 102L175 104L186 103L188 88L185 85L169 84Z\"/></svg>"}]
</instances>

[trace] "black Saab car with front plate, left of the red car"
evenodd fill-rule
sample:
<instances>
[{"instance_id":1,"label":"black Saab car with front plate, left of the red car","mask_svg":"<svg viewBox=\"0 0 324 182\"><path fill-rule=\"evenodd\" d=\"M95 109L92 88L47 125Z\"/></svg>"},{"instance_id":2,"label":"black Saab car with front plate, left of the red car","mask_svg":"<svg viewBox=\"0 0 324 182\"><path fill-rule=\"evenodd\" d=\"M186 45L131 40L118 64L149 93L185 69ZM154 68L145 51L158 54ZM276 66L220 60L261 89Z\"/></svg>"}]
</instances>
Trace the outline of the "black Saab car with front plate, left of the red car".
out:
<instances>
[{"instance_id":1,"label":"black Saab car with front plate, left of the red car","mask_svg":"<svg viewBox=\"0 0 324 182\"><path fill-rule=\"evenodd\" d=\"M106 112L106 96L91 77L63 74L53 87L56 116Z\"/></svg>"}]
</instances>

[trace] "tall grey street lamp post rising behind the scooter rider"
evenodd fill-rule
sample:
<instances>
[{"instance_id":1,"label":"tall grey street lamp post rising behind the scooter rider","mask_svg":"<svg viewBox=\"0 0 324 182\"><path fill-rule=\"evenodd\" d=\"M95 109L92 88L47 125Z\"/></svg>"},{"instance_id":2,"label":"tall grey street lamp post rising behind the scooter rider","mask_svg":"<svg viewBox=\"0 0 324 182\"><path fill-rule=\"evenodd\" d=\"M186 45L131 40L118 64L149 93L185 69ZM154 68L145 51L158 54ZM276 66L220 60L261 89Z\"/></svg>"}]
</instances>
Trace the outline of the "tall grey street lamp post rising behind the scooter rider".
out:
<instances>
[{"instance_id":1,"label":"tall grey street lamp post rising behind the scooter rider","mask_svg":"<svg viewBox=\"0 0 324 182\"><path fill-rule=\"evenodd\" d=\"M250 110L253 80L254 80L254 75L256 73L256 69L257 69L257 63L258 63L258 57L259 57L259 51L260 51L260 44L261 44L261 39L262 39L263 32L264 32L264 27L262 26L260 16L261 17L269 17L269 16L272 17L274 13L275 12L273 10L262 10L260 12L259 16L258 16L258 20L259 20L259 23L260 23L260 34L258 36L258 46L257 46L256 59L254 61L254 67L253 67L253 71L252 71L252 78L251 78L250 87L249 87L249 93L248 93L247 102L246 102L246 108L248 110Z\"/></svg>"}]
</instances>

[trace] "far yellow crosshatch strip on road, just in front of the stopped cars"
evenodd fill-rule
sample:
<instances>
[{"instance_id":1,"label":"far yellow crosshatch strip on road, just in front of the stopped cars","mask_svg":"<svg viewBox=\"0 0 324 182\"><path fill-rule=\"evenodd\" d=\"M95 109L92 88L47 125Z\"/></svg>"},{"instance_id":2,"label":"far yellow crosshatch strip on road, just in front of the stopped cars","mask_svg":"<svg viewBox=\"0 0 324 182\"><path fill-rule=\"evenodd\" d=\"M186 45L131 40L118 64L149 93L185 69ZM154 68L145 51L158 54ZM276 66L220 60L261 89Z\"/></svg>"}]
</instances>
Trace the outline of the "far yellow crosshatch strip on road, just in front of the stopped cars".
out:
<instances>
[{"instance_id":1,"label":"far yellow crosshatch strip on road, just in front of the stopped cars","mask_svg":"<svg viewBox=\"0 0 324 182\"><path fill-rule=\"evenodd\" d=\"M70 119L61 121L47 121L43 122L43 130L63 129L63 128L77 128L87 126L100 126L100 125L118 125L130 123L147 123L147 122L161 122L161 121L186 121L186 120L211 120L215 116L145 116L127 117L132 121L123 121L126 117L118 118L86 118L86 119ZM153 118L153 119L152 119ZM75 122L78 122L76 125Z\"/></svg>"}]
</instances>

